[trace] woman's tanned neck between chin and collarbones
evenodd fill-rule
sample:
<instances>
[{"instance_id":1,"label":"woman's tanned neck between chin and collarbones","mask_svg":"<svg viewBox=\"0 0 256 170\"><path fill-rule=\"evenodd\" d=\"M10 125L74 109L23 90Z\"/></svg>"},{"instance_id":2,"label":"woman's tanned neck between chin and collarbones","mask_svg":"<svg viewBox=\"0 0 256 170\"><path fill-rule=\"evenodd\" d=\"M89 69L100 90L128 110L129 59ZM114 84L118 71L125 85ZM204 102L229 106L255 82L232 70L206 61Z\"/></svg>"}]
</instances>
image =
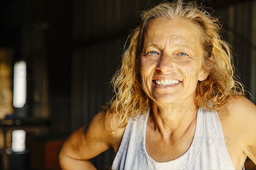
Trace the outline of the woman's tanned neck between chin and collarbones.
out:
<instances>
[{"instance_id":1,"label":"woman's tanned neck between chin and collarbones","mask_svg":"<svg viewBox=\"0 0 256 170\"><path fill-rule=\"evenodd\" d=\"M197 107L192 103L172 103L169 107L161 107L151 101L152 107L149 125L159 131L164 139L180 138L186 136L190 130L195 130Z\"/></svg>"}]
</instances>

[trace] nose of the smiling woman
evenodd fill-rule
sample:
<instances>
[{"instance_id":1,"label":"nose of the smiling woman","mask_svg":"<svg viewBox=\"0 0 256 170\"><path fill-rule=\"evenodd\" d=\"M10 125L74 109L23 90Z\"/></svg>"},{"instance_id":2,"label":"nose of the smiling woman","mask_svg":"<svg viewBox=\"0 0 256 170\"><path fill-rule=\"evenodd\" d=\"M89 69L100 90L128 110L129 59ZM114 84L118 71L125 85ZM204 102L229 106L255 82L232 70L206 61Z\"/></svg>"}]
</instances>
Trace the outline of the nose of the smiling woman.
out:
<instances>
[{"instance_id":1,"label":"nose of the smiling woman","mask_svg":"<svg viewBox=\"0 0 256 170\"><path fill-rule=\"evenodd\" d=\"M172 56L167 53L163 53L162 56L159 57L156 69L161 74L168 74L171 72L174 69L174 59Z\"/></svg>"}]
</instances>

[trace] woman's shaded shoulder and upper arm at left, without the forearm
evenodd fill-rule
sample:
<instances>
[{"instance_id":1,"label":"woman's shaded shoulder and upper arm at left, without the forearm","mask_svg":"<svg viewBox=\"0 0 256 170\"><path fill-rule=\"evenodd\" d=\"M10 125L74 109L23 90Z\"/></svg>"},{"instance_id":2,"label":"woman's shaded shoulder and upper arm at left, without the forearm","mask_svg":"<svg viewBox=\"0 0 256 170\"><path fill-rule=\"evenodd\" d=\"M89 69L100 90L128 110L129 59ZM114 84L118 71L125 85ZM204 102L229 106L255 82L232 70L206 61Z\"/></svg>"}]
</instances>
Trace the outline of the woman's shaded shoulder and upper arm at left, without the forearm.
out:
<instances>
[{"instance_id":1,"label":"woman's shaded shoulder and upper arm at left, without the forearm","mask_svg":"<svg viewBox=\"0 0 256 170\"><path fill-rule=\"evenodd\" d=\"M108 150L109 147L118 150L118 142L123 135L123 129L117 129L118 127L119 119L102 111L94 116L89 125L74 131L66 139L60 155L77 160L88 160ZM115 133L113 133L114 130L116 130Z\"/></svg>"}]
</instances>

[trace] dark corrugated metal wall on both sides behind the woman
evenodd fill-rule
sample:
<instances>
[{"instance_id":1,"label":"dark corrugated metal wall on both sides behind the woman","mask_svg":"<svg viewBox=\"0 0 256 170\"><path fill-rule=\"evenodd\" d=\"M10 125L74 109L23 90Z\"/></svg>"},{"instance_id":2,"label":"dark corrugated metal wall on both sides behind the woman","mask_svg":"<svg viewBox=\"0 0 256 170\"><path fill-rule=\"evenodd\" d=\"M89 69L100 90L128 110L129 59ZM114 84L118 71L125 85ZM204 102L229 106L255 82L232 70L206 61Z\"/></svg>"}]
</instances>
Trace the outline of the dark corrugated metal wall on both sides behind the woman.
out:
<instances>
[{"instance_id":1,"label":"dark corrugated metal wall on both sides behind the woman","mask_svg":"<svg viewBox=\"0 0 256 170\"><path fill-rule=\"evenodd\" d=\"M118 68L128 30L138 23L138 14L160 1L154 0L73 0L73 57L71 121L73 130L87 124L110 99L109 82ZM236 50L244 84L255 94L255 9L256 1L219 8L224 33ZM250 69L248 69L248 67ZM93 159L98 167L111 165L112 151Z\"/></svg>"}]
</instances>

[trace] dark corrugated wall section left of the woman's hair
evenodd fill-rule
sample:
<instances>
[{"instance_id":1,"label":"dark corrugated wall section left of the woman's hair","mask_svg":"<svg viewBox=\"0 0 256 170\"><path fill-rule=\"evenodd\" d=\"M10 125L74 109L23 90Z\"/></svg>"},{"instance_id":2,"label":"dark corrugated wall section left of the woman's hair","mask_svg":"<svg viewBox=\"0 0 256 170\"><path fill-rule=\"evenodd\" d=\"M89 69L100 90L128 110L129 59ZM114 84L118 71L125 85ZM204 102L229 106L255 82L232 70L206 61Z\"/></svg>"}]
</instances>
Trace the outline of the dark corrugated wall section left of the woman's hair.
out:
<instances>
[{"instance_id":1,"label":"dark corrugated wall section left of the woman's hair","mask_svg":"<svg viewBox=\"0 0 256 170\"><path fill-rule=\"evenodd\" d=\"M128 31L137 26L139 20L135 11L149 8L152 2L73 1L73 129L88 123L109 101L109 82L118 68L121 48Z\"/></svg>"}]
</instances>

